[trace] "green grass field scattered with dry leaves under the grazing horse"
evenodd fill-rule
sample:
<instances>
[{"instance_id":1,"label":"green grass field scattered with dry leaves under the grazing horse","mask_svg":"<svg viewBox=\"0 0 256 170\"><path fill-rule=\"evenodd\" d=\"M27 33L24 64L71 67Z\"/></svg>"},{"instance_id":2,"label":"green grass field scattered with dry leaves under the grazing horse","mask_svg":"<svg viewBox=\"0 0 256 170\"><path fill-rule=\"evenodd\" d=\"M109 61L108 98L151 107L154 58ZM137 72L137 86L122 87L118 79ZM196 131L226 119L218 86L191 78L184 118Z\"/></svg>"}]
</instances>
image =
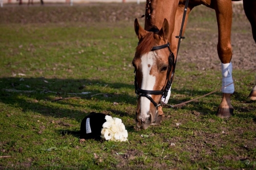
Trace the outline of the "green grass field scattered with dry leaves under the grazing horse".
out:
<instances>
[{"instance_id":1,"label":"green grass field scattered with dry leaves under the grazing horse","mask_svg":"<svg viewBox=\"0 0 256 170\"><path fill-rule=\"evenodd\" d=\"M131 61L137 38L132 22L2 23L0 32L0 169L256 167L256 105L247 99L253 75L236 82L235 112L228 120L215 116L221 102L221 92L216 92L182 108L164 109L160 126L139 130L134 120ZM182 41L184 49L186 43ZM178 63L169 103L221 87L218 69L202 71L195 65ZM233 70L233 77L245 72ZM81 92L91 94L68 94ZM53 102L92 94L97 95ZM80 142L79 135L63 133L79 131L81 120L92 111L121 118L129 143Z\"/></svg>"}]
</instances>

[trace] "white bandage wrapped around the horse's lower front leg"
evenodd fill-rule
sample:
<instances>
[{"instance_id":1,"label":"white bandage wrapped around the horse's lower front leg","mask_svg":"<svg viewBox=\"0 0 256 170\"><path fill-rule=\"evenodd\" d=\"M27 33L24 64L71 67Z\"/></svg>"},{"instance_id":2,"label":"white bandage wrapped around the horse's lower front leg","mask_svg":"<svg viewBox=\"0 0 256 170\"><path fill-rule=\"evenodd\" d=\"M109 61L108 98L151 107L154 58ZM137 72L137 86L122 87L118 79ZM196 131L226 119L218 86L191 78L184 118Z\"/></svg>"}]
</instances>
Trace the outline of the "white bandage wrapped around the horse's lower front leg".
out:
<instances>
[{"instance_id":1,"label":"white bandage wrapped around the horse's lower front leg","mask_svg":"<svg viewBox=\"0 0 256 170\"><path fill-rule=\"evenodd\" d=\"M222 87L224 87L221 91L223 93L230 93L234 92L234 84L232 79L232 63L223 64L221 63L221 70L222 70ZM229 86L225 87L226 85L230 84Z\"/></svg>"}]
</instances>

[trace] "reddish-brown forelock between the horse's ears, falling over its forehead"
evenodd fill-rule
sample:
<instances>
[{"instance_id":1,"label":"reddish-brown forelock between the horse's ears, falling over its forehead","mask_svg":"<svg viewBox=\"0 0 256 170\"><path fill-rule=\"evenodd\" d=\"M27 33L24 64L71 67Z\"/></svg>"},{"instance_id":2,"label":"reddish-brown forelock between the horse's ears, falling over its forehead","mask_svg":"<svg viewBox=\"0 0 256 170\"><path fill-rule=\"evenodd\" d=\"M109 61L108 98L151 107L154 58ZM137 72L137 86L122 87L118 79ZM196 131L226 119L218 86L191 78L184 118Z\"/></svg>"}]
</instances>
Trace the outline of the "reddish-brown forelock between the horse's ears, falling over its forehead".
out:
<instances>
[{"instance_id":1,"label":"reddish-brown forelock between the horse's ears, falling over its forehead","mask_svg":"<svg viewBox=\"0 0 256 170\"><path fill-rule=\"evenodd\" d=\"M154 32L148 32L144 37L139 41L138 46L136 47L136 54L142 56L145 53L151 51L154 45Z\"/></svg>"}]
</instances>

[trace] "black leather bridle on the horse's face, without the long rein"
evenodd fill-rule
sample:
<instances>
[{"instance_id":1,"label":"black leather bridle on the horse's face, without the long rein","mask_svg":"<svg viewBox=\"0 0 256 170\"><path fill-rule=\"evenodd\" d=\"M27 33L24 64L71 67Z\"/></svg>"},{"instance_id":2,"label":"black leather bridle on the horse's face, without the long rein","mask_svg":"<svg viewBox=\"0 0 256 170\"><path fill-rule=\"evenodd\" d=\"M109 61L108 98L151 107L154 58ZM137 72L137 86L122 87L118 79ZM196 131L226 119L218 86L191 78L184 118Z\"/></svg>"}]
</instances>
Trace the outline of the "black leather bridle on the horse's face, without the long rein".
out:
<instances>
[{"instance_id":1,"label":"black leather bridle on the horse's face, without the long rein","mask_svg":"<svg viewBox=\"0 0 256 170\"><path fill-rule=\"evenodd\" d=\"M162 90L143 90L141 88L139 88L138 86L138 82L137 82L137 78L136 78L136 74L134 76L135 80L134 80L134 85L135 85L135 93L137 94L137 99L139 100L141 96L146 97L148 100L150 100L154 106L158 109L159 106L162 106L164 104L164 102L162 102L162 98L166 99L166 96L168 94L168 91L170 89L170 86L172 86L172 82L174 79L174 72L175 72L175 58L174 58L174 53L170 50L170 43L167 42L167 44L164 45L159 45L159 46L153 46L151 51L156 51L156 50L161 50L163 48L168 48L170 54L168 57L168 69L167 69L167 73L166 73L166 82L167 84L165 85L165 87L163 86ZM136 73L136 70L134 70L134 73ZM154 94L154 95L162 95L162 98L160 100L160 103L157 104L150 95L148 94Z\"/></svg>"}]
</instances>

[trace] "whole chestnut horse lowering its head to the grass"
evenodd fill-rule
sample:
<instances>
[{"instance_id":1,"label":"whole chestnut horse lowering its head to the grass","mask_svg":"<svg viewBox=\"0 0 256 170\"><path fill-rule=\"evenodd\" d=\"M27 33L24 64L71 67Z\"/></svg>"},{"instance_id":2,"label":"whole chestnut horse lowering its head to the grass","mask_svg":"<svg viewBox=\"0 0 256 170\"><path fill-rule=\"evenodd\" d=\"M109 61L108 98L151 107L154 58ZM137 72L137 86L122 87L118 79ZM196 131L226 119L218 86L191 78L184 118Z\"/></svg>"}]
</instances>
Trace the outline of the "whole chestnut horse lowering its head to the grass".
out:
<instances>
[{"instance_id":1,"label":"whole chestnut horse lowering its head to the grass","mask_svg":"<svg viewBox=\"0 0 256 170\"><path fill-rule=\"evenodd\" d=\"M178 54L177 36L181 30L185 3L186 0L147 0L144 29L139 25L138 19L135 19L134 28L139 39L133 59L138 96L138 128L147 129L150 125L159 125L163 120L162 106L163 103L167 104L170 96ZM221 61L223 92L217 116L229 118L233 113L230 96L234 92L230 44L232 2L190 0L181 35L184 34L189 12L198 5L205 5L216 12L219 33L217 51ZM243 5L256 42L256 0L243 0ZM252 89L250 98L256 100L256 86Z\"/></svg>"}]
</instances>

